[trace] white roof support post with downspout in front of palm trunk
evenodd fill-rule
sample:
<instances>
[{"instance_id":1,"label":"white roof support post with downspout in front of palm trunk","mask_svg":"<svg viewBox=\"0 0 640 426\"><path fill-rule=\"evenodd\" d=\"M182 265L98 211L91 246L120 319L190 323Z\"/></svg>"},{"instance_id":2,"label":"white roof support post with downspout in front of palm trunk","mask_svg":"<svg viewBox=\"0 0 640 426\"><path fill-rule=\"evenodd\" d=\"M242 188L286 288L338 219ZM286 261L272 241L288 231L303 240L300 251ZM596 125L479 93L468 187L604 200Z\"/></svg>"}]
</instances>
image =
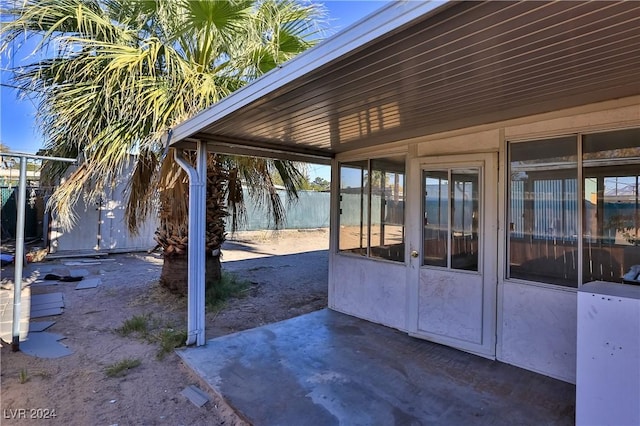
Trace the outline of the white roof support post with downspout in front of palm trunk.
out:
<instances>
[{"instance_id":1,"label":"white roof support post with downspout in front of palm trunk","mask_svg":"<svg viewBox=\"0 0 640 426\"><path fill-rule=\"evenodd\" d=\"M169 133L169 139L171 132ZM167 141L167 146L169 141ZM204 335L205 296L205 222L207 196L207 146L197 142L196 168L175 150L176 162L189 176L189 247L187 250L187 345L202 346Z\"/></svg>"}]
</instances>

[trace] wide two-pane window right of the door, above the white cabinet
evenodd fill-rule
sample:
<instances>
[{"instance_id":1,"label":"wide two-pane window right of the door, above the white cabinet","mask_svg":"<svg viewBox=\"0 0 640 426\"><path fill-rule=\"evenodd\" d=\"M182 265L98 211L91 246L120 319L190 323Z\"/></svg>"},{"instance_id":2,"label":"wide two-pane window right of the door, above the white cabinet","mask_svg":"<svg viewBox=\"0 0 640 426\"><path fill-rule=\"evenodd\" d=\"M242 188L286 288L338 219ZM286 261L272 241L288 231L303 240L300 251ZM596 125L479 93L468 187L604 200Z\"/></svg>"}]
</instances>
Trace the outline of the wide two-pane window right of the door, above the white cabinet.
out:
<instances>
[{"instance_id":1,"label":"wide two-pane window right of the door, above the white cabinet","mask_svg":"<svg viewBox=\"0 0 640 426\"><path fill-rule=\"evenodd\" d=\"M640 273L640 129L578 142L509 145L509 278L578 287Z\"/></svg>"}]
</instances>

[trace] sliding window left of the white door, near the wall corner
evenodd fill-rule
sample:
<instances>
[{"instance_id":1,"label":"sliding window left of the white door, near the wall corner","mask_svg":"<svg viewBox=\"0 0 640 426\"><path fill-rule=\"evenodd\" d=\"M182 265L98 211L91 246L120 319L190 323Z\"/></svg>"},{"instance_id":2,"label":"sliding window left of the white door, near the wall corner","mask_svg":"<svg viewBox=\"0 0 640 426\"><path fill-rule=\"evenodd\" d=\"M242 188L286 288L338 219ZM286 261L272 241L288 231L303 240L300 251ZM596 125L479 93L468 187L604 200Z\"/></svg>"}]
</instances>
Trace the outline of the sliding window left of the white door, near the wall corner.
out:
<instances>
[{"instance_id":1,"label":"sliding window left of the white door, near the wall corner","mask_svg":"<svg viewBox=\"0 0 640 426\"><path fill-rule=\"evenodd\" d=\"M404 167L404 157L340 165L340 252L404 262Z\"/></svg>"}]
</instances>

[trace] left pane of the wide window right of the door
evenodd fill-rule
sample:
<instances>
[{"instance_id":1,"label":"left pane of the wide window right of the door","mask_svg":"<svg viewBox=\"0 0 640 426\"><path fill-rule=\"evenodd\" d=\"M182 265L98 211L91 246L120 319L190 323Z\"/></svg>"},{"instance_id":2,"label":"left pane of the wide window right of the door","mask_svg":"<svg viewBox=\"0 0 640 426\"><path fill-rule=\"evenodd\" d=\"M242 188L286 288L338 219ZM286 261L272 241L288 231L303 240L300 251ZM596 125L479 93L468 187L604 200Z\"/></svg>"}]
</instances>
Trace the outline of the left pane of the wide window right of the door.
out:
<instances>
[{"instance_id":1,"label":"left pane of the wide window right of the door","mask_svg":"<svg viewBox=\"0 0 640 426\"><path fill-rule=\"evenodd\" d=\"M575 137L510 146L509 277L578 286Z\"/></svg>"}]
</instances>

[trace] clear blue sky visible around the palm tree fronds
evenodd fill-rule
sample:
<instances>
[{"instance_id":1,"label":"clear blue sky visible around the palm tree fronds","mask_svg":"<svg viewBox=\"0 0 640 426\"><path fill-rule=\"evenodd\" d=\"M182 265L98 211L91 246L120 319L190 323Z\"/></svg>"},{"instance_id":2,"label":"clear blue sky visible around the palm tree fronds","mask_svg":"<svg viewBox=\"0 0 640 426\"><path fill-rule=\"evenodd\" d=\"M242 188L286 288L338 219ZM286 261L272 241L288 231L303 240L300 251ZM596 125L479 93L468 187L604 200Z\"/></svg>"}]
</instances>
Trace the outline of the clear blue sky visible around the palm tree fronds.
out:
<instances>
[{"instance_id":1,"label":"clear blue sky visible around the palm tree fronds","mask_svg":"<svg viewBox=\"0 0 640 426\"><path fill-rule=\"evenodd\" d=\"M375 10L384 6L386 0L333 0L316 1L324 3L328 10L329 35L359 21ZM34 115L37 102L32 98L19 98L15 89L6 87L10 84L7 66L19 65L23 57L2 58L0 72L2 72L2 86L0 87L0 142L10 147L12 151L35 153L42 147L42 135L35 126ZM7 63L7 61L9 63ZM311 180L317 176L329 180L329 167L309 165Z\"/></svg>"}]
</instances>

